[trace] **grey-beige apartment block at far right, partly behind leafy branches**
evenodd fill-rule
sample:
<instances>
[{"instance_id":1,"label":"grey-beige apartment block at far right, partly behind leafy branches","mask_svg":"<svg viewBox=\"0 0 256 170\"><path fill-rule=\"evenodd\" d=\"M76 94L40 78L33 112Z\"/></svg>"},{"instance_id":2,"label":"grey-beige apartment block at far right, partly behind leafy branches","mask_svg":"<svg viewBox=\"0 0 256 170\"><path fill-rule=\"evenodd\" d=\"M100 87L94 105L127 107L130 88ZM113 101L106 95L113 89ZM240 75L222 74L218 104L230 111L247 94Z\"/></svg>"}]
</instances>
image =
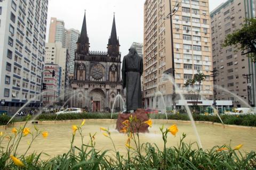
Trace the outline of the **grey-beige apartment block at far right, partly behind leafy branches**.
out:
<instances>
[{"instance_id":1,"label":"grey-beige apartment block at far right, partly behind leafy branches","mask_svg":"<svg viewBox=\"0 0 256 170\"><path fill-rule=\"evenodd\" d=\"M255 1L228 0L215 8L210 16L213 69L219 71L216 84L242 97L246 102L249 94L250 104L255 105L255 64L246 55L236 52L236 48L221 46L228 34L242 27L245 18L255 17ZM243 74L253 74L249 76L249 84ZM235 107L244 106L236 97L220 89L216 90L218 100L233 100Z\"/></svg>"}]
</instances>

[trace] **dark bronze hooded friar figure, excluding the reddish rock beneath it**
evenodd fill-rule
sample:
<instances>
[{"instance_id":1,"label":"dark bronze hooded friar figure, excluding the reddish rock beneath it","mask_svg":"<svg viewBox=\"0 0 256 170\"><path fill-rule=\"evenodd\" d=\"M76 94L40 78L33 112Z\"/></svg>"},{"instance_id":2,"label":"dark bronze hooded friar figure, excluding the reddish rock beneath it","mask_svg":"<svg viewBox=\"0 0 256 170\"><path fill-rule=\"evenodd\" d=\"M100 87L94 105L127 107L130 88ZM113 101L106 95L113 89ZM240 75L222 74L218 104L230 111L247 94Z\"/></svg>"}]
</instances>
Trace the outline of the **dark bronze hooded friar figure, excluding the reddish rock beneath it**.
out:
<instances>
[{"instance_id":1,"label":"dark bronze hooded friar figure, excluding the reddish rock beneath it","mask_svg":"<svg viewBox=\"0 0 256 170\"><path fill-rule=\"evenodd\" d=\"M123 88L126 88L126 111L142 108L141 80L143 59L135 48L129 49L122 66Z\"/></svg>"}]
</instances>

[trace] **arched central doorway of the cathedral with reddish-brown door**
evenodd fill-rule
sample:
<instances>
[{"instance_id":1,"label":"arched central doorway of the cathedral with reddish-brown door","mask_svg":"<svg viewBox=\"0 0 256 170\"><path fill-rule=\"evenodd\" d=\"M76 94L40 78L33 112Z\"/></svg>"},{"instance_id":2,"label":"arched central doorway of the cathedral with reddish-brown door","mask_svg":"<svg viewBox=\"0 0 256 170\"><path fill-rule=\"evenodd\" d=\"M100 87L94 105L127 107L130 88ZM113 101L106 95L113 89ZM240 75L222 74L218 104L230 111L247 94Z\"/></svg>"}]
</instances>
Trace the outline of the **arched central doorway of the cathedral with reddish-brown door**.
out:
<instances>
[{"instance_id":1,"label":"arched central doorway of the cathedral with reddish-brown door","mask_svg":"<svg viewBox=\"0 0 256 170\"><path fill-rule=\"evenodd\" d=\"M92 112L101 112L105 106L105 95L101 89L94 89L90 92L90 108Z\"/></svg>"}]
</instances>

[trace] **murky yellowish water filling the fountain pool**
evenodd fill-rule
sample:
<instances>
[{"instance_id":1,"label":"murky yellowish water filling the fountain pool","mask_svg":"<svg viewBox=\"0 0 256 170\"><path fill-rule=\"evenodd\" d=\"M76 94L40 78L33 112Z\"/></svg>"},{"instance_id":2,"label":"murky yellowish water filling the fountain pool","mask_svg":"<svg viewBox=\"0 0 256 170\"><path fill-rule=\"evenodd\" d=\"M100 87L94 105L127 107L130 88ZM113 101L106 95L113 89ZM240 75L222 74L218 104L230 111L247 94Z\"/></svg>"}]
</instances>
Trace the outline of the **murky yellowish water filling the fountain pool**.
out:
<instances>
[{"instance_id":1,"label":"murky yellowish water filling the fountain pool","mask_svg":"<svg viewBox=\"0 0 256 170\"><path fill-rule=\"evenodd\" d=\"M28 154L32 153L33 151L45 152L53 157L55 155L67 152L70 148L70 141L73 132L71 126L74 124L79 125L81 122L82 121L38 124L38 129L48 131L49 136L46 139L43 139L42 136L38 137ZM115 123L115 120L112 122L110 122L110 120L86 120L85 125L82 127L83 135L85 136L84 143L87 144L90 141L90 132L92 134L96 132L96 147L98 149L114 150L111 141L103 136L102 132L100 131L100 127L105 127L110 129L111 137L115 142L116 149L121 151L123 154L126 153L125 142L127 137L115 130ZM177 146L182 133L187 134L187 138L185 140L186 142L196 141L196 136L190 123L171 120L166 123L166 120L153 120L153 127L149 129L150 133L140 134L141 142L156 143L159 148L163 148L162 134L159 127L164 125L165 128L168 128L174 123L177 124L179 132L177 133L176 137L173 137L171 133L169 134L167 146ZM18 129L19 126L20 125L17 125L15 127ZM28 123L27 126L31 127L31 131L35 131L33 124ZM234 147L242 143L244 146L241 148L241 151L249 152L251 150L256 150L256 129L223 128L222 126L204 123L198 123L196 127L202 140L203 149L211 149L216 145L229 145L229 143L231 143L231 146ZM0 131L10 134L11 130L12 128L7 128L6 130L4 128L0 128ZM28 147L29 140L29 135L22 138L18 149L19 154L25 152ZM7 139L4 141L3 145L5 143L7 143ZM79 137L79 133L76 133L75 146L80 147L81 143L81 137Z\"/></svg>"}]
</instances>

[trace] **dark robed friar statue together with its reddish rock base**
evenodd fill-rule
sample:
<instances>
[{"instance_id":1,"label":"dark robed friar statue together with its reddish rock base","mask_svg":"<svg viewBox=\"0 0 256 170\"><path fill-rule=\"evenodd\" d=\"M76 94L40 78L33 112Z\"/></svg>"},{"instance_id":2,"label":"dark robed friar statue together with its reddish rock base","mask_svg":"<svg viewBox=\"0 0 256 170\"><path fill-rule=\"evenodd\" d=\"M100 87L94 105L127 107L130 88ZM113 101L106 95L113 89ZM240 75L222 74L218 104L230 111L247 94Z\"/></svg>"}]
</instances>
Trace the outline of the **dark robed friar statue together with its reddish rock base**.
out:
<instances>
[{"instance_id":1,"label":"dark robed friar statue together with its reddish rock base","mask_svg":"<svg viewBox=\"0 0 256 170\"><path fill-rule=\"evenodd\" d=\"M126 88L126 111L118 114L116 121L116 129L119 132L126 132L127 128L124 121L129 120L129 117L136 117L135 122L132 122L130 128L133 132L149 132L148 124L143 123L148 121L148 116L145 109L142 109L141 98L141 75L143 73L143 59L138 55L135 48L129 49L129 54L124 56L122 66L122 83L123 88ZM132 112L131 112L132 111Z\"/></svg>"}]
</instances>

